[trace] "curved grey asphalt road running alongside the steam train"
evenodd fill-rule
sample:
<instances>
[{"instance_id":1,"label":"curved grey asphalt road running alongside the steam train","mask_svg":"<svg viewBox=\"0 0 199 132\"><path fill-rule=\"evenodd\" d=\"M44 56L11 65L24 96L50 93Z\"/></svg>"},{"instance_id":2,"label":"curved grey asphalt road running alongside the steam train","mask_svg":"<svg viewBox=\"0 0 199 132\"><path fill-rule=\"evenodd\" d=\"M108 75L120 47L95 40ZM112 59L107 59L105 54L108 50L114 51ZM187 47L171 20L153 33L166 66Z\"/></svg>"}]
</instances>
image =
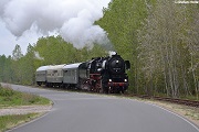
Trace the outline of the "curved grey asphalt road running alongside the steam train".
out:
<instances>
[{"instance_id":1,"label":"curved grey asphalt road running alongside the steam train","mask_svg":"<svg viewBox=\"0 0 199 132\"><path fill-rule=\"evenodd\" d=\"M12 85L51 99L45 116L9 132L199 132L186 119L155 105L101 95Z\"/></svg>"}]
</instances>

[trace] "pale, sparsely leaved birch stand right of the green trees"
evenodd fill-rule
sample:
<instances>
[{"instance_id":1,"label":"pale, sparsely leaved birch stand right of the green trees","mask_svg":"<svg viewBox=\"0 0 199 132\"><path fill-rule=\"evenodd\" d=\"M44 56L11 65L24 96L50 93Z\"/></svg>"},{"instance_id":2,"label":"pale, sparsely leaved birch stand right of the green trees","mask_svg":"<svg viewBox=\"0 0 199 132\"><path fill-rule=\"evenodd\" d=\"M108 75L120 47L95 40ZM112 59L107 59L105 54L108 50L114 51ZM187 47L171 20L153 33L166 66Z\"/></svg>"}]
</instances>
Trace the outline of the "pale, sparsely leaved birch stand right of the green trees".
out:
<instances>
[{"instance_id":1,"label":"pale, sparsely leaved birch stand right of the green trees","mask_svg":"<svg viewBox=\"0 0 199 132\"><path fill-rule=\"evenodd\" d=\"M192 94L198 96L197 75L193 76L195 69L193 73L188 70L193 63L190 44L197 47L198 34L190 36L187 32L193 32L191 26L195 25L195 20L192 21L191 15L198 15L195 12L197 10L195 7L190 10L187 6L163 0L157 0L154 10L148 9L150 14L138 33L140 73L145 76L148 94L156 92L157 89L154 88L157 87L174 98ZM198 30L197 26L196 29ZM192 42L189 37L196 41ZM197 51L198 47L195 48Z\"/></svg>"}]
</instances>

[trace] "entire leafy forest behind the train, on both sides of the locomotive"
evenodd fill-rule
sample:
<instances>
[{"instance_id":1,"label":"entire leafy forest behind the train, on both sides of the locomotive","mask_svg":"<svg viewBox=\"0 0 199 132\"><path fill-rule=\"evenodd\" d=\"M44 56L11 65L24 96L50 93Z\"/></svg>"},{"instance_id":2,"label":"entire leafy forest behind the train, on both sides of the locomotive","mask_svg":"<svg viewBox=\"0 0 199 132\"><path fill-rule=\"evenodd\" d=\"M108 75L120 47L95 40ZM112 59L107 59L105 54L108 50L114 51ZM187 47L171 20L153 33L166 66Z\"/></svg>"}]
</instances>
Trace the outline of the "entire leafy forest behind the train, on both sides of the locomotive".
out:
<instances>
[{"instance_id":1,"label":"entire leafy forest behind the train, on both sides of the locomotive","mask_svg":"<svg viewBox=\"0 0 199 132\"><path fill-rule=\"evenodd\" d=\"M199 100L199 4L174 0L113 0L95 24L103 28L115 52L130 61L129 94ZM12 55L0 55L0 81L34 85L42 65L85 62L106 56L93 44L77 50L60 35L19 44Z\"/></svg>"}]
</instances>

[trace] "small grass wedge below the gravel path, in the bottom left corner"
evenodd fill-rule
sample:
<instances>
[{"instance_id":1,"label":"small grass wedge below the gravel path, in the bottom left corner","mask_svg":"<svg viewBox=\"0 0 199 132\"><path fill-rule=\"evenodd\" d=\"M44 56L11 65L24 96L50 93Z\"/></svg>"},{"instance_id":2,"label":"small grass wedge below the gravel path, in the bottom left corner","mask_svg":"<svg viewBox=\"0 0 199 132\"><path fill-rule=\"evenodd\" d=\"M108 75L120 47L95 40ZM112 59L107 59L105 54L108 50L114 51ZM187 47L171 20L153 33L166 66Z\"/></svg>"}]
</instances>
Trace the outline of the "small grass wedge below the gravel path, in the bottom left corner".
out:
<instances>
[{"instance_id":1,"label":"small grass wedge below the gravel path, in the bottom left corner","mask_svg":"<svg viewBox=\"0 0 199 132\"><path fill-rule=\"evenodd\" d=\"M19 116L2 116L0 117L0 132L9 130L15 125L28 122L36 117L39 113L19 114Z\"/></svg>"}]
</instances>

